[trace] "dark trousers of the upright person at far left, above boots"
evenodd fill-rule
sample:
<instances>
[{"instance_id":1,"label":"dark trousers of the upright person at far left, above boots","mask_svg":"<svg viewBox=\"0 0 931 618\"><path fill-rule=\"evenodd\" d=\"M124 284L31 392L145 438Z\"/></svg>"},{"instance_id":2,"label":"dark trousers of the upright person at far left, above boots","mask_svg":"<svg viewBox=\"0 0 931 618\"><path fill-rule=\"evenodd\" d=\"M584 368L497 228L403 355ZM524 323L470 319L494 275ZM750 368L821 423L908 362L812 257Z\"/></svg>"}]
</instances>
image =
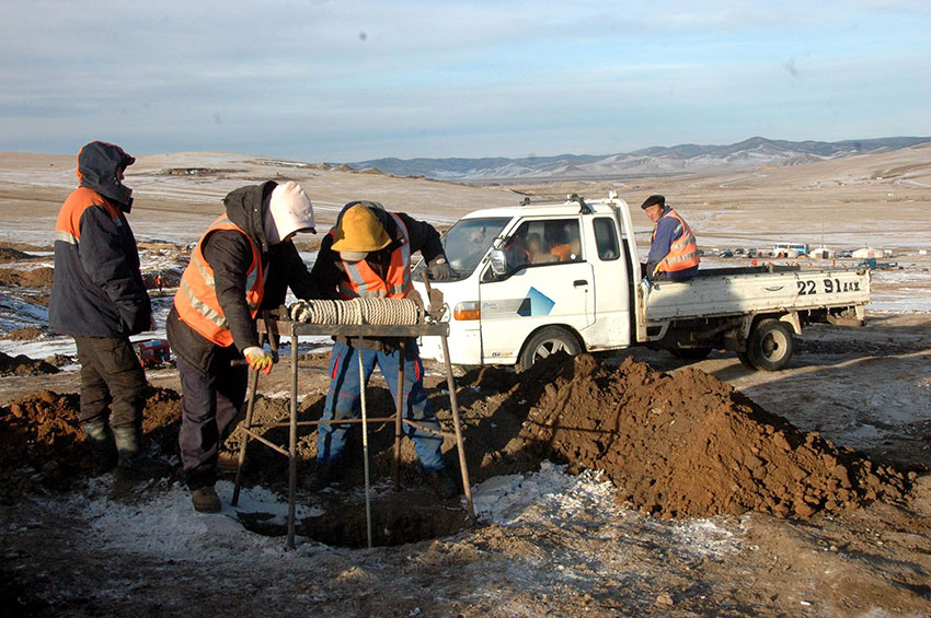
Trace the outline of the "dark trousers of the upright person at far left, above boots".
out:
<instances>
[{"instance_id":1,"label":"dark trousers of the upright person at far left, above boots","mask_svg":"<svg viewBox=\"0 0 931 618\"><path fill-rule=\"evenodd\" d=\"M81 363L81 422L106 420L114 429L142 425L146 372L128 337L74 337Z\"/></svg>"}]
</instances>

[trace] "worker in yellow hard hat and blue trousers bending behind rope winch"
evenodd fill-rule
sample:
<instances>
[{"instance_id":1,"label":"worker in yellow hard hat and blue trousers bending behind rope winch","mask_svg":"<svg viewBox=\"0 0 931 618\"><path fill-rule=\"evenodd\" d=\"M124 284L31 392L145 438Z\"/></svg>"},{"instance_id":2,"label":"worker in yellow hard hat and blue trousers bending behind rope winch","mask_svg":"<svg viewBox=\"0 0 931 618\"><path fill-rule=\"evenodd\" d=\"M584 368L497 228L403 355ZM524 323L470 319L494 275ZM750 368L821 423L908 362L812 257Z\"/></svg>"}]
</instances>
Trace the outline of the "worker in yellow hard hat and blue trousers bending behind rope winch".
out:
<instances>
[{"instance_id":1,"label":"worker in yellow hard hat and blue trousers bending behind rope winch","mask_svg":"<svg viewBox=\"0 0 931 618\"><path fill-rule=\"evenodd\" d=\"M446 260L439 233L433 225L416 221L403 212L388 212L373 201L346 205L336 219L336 226L324 236L311 276L333 299L355 298L404 299L413 290L411 256L421 252L429 266L430 277L442 281L452 276ZM399 365L404 366L404 415L418 424L439 430L439 422L429 407L424 389L424 364L416 340L405 339L401 358L398 337L349 339L334 337L330 361L330 390L321 420L350 419L360 415L361 388L376 364L396 398ZM365 377L359 381L361 354ZM458 493L456 482L446 471L442 459L442 438L405 425L413 439L421 469L430 486L442 498ZM320 490L342 476L343 450L347 425L321 424L317 441L318 469L306 482Z\"/></svg>"}]
</instances>

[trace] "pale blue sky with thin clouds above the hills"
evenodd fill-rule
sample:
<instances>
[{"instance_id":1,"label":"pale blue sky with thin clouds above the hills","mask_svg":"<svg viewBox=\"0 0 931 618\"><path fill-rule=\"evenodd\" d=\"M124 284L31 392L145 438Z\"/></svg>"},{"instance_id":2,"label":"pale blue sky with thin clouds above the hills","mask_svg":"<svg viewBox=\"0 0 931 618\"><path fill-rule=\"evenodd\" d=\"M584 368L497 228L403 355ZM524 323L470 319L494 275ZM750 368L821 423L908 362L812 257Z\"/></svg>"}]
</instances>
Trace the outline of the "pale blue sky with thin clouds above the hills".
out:
<instances>
[{"instance_id":1,"label":"pale blue sky with thin clouds above the hills","mask_svg":"<svg viewBox=\"0 0 931 618\"><path fill-rule=\"evenodd\" d=\"M4 0L0 37L0 150L360 161L931 136L927 0Z\"/></svg>"}]
</instances>

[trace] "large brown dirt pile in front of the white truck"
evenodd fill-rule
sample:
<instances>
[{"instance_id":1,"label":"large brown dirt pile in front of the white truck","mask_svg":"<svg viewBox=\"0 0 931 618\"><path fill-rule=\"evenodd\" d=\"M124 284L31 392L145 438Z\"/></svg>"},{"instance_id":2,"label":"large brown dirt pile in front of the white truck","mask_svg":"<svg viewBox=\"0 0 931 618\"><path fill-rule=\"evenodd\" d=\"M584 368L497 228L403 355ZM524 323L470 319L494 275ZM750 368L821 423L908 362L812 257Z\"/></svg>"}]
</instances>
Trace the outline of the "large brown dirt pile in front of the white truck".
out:
<instances>
[{"instance_id":1,"label":"large brown dirt pile in front of the white truck","mask_svg":"<svg viewBox=\"0 0 931 618\"><path fill-rule=\"evenodd\" d=\"M897 500L908 485L699 370L673 375L632 359L611 369L583 354L541 363L521 384L512 397L536 406L520 439L604 470L644 513L808 517Z\"/></svg>"}]
</instances>

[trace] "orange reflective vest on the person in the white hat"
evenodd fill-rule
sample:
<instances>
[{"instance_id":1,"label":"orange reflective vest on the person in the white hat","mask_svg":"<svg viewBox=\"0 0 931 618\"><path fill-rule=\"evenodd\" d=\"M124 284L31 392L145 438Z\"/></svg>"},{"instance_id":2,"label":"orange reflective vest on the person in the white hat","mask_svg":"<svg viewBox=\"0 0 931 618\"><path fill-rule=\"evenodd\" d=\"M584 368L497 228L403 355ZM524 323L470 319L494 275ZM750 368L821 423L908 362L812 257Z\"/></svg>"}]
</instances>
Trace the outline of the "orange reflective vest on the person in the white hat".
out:
<instances>
[{"instance_id":1,"label":"orange reflective vest on the person in the white hat","mask_svg":"<svg viewBox=\"0 0 931 618\"><path fill-rule=\"evenodd\" d=\"M252 317L258 315L258 306L262 304L262 295L265 292L264 277L262 273L262 255L255 242L249 237L235 223L230 221L226 214L219 217L200 236L197 246L191 255L191 263L184 269L181 283L174 295L174 306L177 315L187 326L203 335L206 339L217 346L231 346L233 342L227 317L217 300L217 287L214 281L214 269L204 258L200 247L208 234L218 230L235 230L245 234L252 246L252 264L246 271L245 302L252 312Z\"/></svg>"}]
</instances>

